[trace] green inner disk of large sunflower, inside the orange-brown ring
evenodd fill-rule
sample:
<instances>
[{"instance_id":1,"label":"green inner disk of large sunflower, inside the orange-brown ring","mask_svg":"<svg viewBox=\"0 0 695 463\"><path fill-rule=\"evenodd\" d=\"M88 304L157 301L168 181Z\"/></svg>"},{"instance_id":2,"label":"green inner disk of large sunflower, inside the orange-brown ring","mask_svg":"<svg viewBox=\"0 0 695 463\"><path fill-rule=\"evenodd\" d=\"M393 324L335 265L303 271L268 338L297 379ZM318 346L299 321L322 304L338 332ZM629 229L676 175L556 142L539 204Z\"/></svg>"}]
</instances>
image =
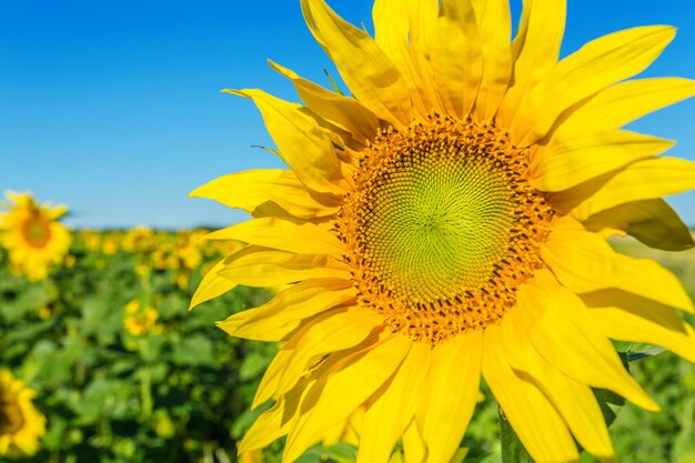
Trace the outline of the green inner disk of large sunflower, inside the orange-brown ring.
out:
<instances>
[{"instance_id":1,"label":"green inner disk of large sunflower, inside the orange-brown ring","mask_svg":"<svg viewBox=\"0 0 695 463\"><path fill-rule=\"evenodd\" d=\"M515 203L505 169L481 157L407 154L374 179L364 256L413 302L450 298L490 279L504 255Z\"/></svg>"}]
</instances>

